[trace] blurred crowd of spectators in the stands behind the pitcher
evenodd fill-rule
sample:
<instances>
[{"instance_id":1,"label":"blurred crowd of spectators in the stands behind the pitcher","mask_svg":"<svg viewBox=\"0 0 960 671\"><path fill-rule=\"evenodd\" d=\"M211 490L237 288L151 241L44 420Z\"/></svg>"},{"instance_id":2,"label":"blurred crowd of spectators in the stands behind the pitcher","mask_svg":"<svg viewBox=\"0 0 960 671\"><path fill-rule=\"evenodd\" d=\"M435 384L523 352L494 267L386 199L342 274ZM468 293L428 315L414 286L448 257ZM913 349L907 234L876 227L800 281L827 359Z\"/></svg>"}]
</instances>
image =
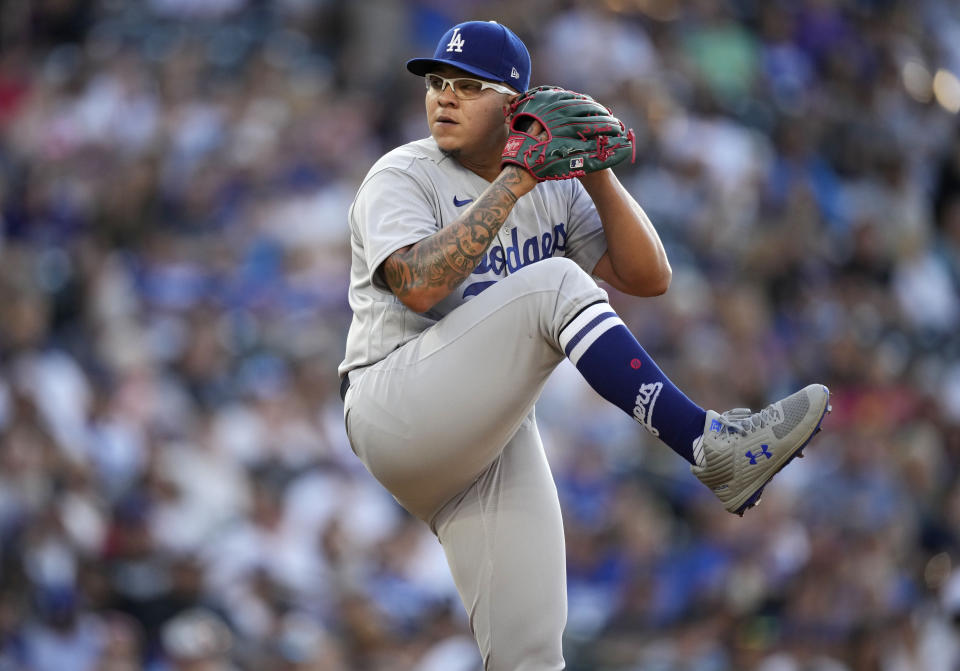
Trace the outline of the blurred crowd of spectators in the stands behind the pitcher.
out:
<instances>
[{"instance_id":1,"label":"blurred crowd of spectators in the stands behind the pitcher","mask_svg":"<svg viewBox=\"0 0 960 671\"><path fill-rule=\"evenodd\" d=\"M611 298L679 386L833 391L740 519L558 369L569 668L960 668L956 3L0 0L0 671L479 668L336 378L403 62L476 18L636 130L674 279Z\"/></svg>"}]
</instances>

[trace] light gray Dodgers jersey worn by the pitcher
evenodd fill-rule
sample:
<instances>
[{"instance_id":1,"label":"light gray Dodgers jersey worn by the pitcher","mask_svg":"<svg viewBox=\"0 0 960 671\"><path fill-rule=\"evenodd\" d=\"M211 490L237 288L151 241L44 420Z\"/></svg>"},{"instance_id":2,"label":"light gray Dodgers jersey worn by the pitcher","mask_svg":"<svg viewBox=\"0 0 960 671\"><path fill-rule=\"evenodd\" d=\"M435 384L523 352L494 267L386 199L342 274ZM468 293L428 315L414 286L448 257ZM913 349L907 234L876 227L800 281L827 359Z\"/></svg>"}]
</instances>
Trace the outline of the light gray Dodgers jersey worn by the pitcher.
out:
<instances>
[{"instance_id":1,"label":"light gray Dodgers jersey worn by the pitcher","mask_svg":"<svg viewBox=\"0 0 960 671\"><path fill-rule=\"evenodd\" d=\"M600 217L579 180L541 182L510 212L479 265L429 312L407 308L378 276L393 252L456 220L490 185L444 154L433 138L377 161L350 207L350 307L340 375L369 366L510 273L553 256L592 273L607 249Z\"/></svg>"}]
</instances>

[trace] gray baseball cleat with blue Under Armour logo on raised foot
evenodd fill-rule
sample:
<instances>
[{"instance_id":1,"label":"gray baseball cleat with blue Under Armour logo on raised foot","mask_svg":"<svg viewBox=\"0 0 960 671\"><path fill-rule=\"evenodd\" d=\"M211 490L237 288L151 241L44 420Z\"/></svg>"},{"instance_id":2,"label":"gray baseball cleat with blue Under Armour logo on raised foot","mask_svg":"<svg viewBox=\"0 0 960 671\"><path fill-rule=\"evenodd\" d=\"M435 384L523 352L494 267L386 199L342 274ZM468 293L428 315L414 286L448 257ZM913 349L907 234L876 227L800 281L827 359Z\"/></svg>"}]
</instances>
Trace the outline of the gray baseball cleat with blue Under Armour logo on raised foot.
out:
<instances>
[{"instance_id":1,"label":"gray baseball cleat with blue Under Armour logo on raised foot","mask_svg":"<svg viewBox=\"0 0 960 671\"><path fill-rule=\"evenodd\" d=\"M737 515L760 502L763 488L820 431L830 412L830 390L812 384L760 412L707 411L702 440L690 470L723 507Z\"/></svg>"}]
</instances>

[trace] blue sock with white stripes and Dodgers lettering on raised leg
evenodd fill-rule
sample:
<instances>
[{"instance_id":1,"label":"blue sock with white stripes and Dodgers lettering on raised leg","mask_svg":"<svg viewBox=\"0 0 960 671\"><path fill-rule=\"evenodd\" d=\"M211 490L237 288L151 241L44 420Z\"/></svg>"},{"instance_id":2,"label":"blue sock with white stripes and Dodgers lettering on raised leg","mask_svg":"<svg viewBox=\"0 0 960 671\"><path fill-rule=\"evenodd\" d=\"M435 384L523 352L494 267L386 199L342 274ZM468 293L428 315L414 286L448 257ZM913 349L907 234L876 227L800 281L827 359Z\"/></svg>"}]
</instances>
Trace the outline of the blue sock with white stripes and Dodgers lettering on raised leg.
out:
<instances>
[{"instance_id":1,"label":"blue sock with white stripes and Dodgers lettering on raised leg","mask_svg":"<svg viewBox=\"0 0 960 671\"><path fill-rule=\"evenodd\" d=\"M694 462L707 413L654 363L609 303L586 307L560 331L560 347L594 391Z\"/></svg>"}]
</instances>

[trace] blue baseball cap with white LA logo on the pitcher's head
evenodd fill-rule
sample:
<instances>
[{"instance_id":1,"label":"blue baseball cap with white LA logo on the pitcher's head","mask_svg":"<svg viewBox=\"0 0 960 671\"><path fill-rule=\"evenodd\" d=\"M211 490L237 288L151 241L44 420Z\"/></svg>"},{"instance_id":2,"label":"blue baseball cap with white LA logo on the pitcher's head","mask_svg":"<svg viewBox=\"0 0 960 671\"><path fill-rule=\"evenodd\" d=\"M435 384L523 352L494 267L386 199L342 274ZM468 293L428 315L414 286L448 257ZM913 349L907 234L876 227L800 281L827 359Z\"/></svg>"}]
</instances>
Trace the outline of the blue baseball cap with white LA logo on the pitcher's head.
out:
<instances>
[{"instance_id":1,"label":"blue baseball cap with white LA logo on the pitcher's head","mask_svg":"<svg viewBox=\"0 0 960 671\"><path fill-rule=\"evenodd\" d=\"M496 21L458 23L440 38L433 58L413 58L407 61L407 70L422 77L439 64L503 82L517 91L530 87L527 47L513 31Z\"/></svg>"}]
</instances>

